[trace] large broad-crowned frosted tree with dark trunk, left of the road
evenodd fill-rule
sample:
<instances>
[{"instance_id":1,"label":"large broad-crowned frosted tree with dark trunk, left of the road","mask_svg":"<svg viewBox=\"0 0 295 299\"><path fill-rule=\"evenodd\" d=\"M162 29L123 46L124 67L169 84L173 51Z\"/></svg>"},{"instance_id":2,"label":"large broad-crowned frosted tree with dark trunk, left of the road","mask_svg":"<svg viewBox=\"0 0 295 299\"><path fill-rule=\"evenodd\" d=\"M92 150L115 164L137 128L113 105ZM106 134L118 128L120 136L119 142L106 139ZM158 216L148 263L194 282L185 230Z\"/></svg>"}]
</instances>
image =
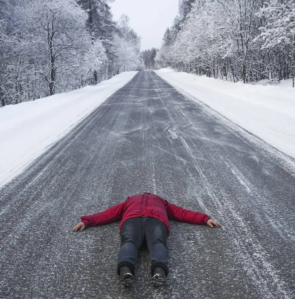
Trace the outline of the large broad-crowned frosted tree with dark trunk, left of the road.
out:
<instances>
[{"instance_id":1,"label":"large broad-crowned frosted tree with dark trunk, left of the road","mask_svg":"<svg viewBox=\"0 0 295 299\"><path fill-rule=\"evenodd\" d=\"M34 68L49 94L77 86L75 78L87 75L81 73L85 69L82 62L89 61L85 58L93 56L93 51L98 57L103 55L101 42L92 40L86 30L86 12L73 0L31 0L23 12L28 35L34 39L28 45L34 53L32 59L38 60Z\"/></svg>"}]
</instances>

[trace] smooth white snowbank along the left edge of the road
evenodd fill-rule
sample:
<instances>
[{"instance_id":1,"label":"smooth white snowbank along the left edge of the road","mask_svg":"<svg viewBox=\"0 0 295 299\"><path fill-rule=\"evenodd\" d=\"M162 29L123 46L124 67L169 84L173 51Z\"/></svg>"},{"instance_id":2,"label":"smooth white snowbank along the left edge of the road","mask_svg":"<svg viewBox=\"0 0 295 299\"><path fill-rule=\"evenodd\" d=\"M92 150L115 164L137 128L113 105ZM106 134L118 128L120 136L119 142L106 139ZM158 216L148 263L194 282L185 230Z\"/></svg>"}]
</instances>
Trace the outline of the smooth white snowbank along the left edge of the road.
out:
<instances>
[{"instance_id":1,"label":"smooth white snowbank along the left edge of the road","mask_svg":"<svg viewBox=\"0 0 295 299\"><path fill-rule=\"evenodd\" d=\"M124 72L96 86L0 108L0 186L65 136L137 72Z\"/></svg>"}]
</instances>

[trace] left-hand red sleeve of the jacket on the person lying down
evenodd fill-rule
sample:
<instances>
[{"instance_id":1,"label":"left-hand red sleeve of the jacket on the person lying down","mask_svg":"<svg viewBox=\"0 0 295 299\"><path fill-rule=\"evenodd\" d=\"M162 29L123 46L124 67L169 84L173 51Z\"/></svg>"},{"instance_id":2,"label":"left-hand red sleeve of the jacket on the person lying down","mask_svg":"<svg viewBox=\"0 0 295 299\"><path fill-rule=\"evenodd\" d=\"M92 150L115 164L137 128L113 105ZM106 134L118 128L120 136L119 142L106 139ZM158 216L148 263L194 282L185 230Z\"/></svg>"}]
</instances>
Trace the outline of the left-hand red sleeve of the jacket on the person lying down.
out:
<instances>
[{"instance_id":1,"label":"left-hand red sleeve of the jacket on the person lying down","mask_svg":"<svg viewBox=\"0 0 295 299\"><path fill-rule=\"evenodd\" d=\"M125 201L115 206L112 206L106 209L105 211L99 212L97 214L82 216L81 220L86 227L103 225L106 223L110 223L122 219L124 210L125 210Z\"/></svg>"}]
</instances>

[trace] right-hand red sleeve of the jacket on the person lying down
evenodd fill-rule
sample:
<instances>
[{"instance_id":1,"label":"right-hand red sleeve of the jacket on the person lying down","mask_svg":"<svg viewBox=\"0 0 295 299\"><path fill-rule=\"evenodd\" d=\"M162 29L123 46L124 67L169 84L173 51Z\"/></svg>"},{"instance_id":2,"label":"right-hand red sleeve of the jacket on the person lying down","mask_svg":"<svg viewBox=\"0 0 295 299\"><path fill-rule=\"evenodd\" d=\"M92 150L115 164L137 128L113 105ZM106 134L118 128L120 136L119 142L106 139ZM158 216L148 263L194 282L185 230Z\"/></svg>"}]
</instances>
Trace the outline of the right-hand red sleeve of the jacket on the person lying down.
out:
<instances>
[{"instance_id":1,"label":"right-hand red sleeve of the jacket on the person lying down","mask_svg":"<svg viewBox=\"0 0 295 299\"><path fill-rule=\"evenodd\" d=\"M192 224L207 224L207 221L210 219L207 214L186 210L182 207L168 203L168 201L166 202L167 215L171 220Z\"/></svg>"}]
</instances>

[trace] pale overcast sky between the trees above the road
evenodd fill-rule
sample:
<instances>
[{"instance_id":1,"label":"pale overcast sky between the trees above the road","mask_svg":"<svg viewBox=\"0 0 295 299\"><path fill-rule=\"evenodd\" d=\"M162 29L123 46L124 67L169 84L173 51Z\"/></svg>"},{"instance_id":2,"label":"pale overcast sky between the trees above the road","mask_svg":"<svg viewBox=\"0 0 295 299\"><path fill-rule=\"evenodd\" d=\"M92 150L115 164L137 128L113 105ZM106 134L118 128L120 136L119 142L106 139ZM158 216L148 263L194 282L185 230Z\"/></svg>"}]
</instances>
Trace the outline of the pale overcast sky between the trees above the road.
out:
<instances>
[{"instance_id":1,"label":"pale overcast sky between the trees above the road","mask_svg":"<svg viewBox=\"0 0 295 299\"><path fill-rule=\"evenodd\" d=\"M141 36L141 50L160 48L178 12L178 0L115 0L110 4L114 20L123 13L129 16L130 27Z\"/></svg>"}]
</instances>

